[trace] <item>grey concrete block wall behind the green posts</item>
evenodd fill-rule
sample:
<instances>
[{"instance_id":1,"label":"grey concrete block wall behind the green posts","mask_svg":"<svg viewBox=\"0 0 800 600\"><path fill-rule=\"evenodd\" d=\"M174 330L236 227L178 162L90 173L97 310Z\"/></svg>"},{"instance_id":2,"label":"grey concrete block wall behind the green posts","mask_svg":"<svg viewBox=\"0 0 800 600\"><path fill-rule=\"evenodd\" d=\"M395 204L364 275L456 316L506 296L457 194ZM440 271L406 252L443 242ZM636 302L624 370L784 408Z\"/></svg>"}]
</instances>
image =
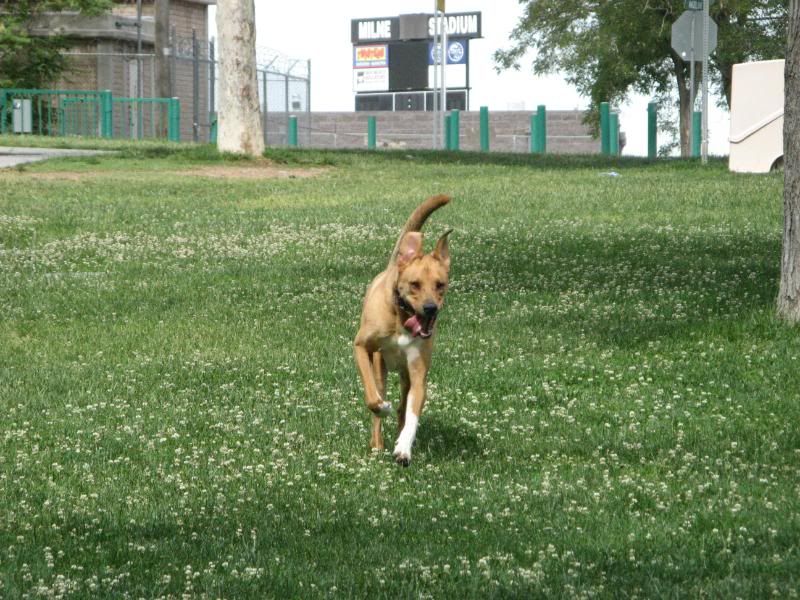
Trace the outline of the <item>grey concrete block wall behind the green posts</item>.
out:
<instances>
[{"instance_id":1,"label":"grey concrete block wall behind the green posts","mask_svg":"<svg viewBox=\"0 0 800 600\"><path fill-rule=\"evenodd\" d=\"M297 114L300 146L312 148L366 148L367 118L374 116L379 148L429 149L433 145L433 114L426 112L314 112ZM496 152L530 151L528 111L489 114L489 147ZM581 111L548 111L547 151L563 154L600 152L600 141L583 124ZM286 113L270 113L267 144L286 144ZM462 150L480 149L480 113L460 113Z\"/></svg>"}]
</instances>

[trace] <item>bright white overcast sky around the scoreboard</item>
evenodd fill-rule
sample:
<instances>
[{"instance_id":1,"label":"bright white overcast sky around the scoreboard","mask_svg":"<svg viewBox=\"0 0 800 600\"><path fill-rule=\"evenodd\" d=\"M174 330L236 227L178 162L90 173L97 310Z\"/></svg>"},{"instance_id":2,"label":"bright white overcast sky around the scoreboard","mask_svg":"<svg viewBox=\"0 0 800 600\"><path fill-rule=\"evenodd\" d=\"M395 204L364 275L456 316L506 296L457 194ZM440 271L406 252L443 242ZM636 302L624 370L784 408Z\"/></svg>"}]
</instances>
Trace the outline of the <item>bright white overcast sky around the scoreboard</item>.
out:
<instances>
[{"instance_id":1,"label":"bright white overcast sky around the scoreboard","mask_svg":"<svg viewBox=\"0 0 800 600\"><path fill-rule=\"evenodd\" d=\"M294 59L311 61L311 110L351 111L352 43L350 20L433 12L434 0L317 0L271 2L255 0L257 46L268 47ZM587 108L589 102L562 76L534 76L533 54L524 57L520 71L497 73L492 55L508 48L509 35L522 14L518 0L447 0L448 12L482 13L483 38L470 41L470 108L489 111ZM211 35L215 12L211 12ZM623 154L647 154L647 103L650 98L632 95L620 109L620 128L627 145ZM709 99L709 152L728 153L729 117ZM661 142L659 142L659 145Z\"/></svg>"}]
</instances>

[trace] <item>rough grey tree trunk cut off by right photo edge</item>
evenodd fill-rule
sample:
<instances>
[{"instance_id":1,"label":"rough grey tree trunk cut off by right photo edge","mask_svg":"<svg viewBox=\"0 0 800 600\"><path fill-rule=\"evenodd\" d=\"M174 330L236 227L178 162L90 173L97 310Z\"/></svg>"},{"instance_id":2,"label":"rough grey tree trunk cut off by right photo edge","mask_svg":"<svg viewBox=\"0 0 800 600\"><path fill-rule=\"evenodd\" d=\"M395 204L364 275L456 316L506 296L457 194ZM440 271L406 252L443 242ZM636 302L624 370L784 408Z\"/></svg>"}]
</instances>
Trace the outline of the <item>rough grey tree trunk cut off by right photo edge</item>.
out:
<instances>
[{"instance_id":1,"label":"rough grey tree trunk cut off by right photo edge","mask_svg":"<svg viewBox=\"0 0 800 600\"><path fill-rule=\"evenodd\" d=\"M791 0L783 106L783 251L778 316L800 322L800 0Z\"/></svg>"}]
</instances>

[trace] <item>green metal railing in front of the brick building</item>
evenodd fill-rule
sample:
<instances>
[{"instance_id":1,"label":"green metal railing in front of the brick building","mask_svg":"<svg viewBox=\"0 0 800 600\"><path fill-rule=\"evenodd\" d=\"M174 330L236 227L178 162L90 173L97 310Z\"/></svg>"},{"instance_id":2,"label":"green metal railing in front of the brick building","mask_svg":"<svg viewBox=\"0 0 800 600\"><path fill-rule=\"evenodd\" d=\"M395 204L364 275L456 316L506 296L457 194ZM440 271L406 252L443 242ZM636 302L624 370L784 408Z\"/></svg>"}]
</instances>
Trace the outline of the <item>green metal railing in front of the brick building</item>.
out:
<instances>
[{"instance_id":1,"label":"green metal railing in front of the brick building","mask_svg":"<svg viewBox=\"0 0 800 600\"><path fill-rule=\"evenodd\" d=\"M115 114L115 105L119 107ZM25 110L24 119L16 114ZM116 118L115 118L116 117ZM19 123L24 122L24 129ZM149 136L147 132L149 131ZM0 88L0 134L166 137L180 141L177 98L114 98L109 90Z\"/></svg>"}]
</instances>

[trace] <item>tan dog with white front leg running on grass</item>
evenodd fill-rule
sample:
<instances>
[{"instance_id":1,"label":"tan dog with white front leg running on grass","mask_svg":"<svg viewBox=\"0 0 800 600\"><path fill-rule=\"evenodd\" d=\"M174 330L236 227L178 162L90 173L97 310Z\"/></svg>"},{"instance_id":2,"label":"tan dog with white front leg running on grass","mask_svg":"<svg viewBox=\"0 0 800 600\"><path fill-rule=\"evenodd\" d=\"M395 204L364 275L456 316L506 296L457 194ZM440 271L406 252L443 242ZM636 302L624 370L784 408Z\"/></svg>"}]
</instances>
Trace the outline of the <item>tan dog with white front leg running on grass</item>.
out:
<instances>
[{"instance_id":1,"label":"tan dog with white front leg running on grass","mask_svg":"<svg viewBox=\"0 0 800 600\"><path fill-rule=\"evenodd\" d=\"M411 462L411 446L425 404L434 326L450 271L450 232L439 238L432 253L423 254L420 229L433 211L449 201L444 195L428 198L408 218L389 266L367 289L354 344L367 408L373 413L372 448L383 449L381 418L392 411L384 397L386 372L400 374L400 435L394 457L403 466Z\"/></svg>"}]
</instances>

